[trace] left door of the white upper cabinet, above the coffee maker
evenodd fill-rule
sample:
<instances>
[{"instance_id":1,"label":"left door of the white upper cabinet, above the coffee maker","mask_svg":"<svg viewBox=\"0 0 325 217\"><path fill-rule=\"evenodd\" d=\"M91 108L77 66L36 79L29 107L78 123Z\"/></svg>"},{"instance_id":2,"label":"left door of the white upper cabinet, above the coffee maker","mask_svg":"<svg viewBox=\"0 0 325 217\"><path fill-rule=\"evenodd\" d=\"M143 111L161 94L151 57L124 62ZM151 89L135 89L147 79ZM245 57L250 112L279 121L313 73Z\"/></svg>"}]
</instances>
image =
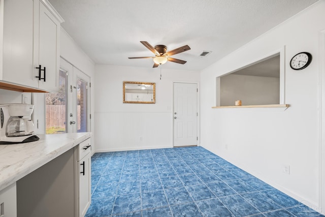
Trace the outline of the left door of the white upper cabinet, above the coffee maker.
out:
<instances>
[{"instance_id":1,"label":"left door of the white upper cabinet, above the coffee maker","mask_svg":"<svg viewBox=\"0 0 325 217\"><path fill-rule=\"evenodd\" d=\"M3 76L0 79L38 87L32 64L33 5L32 0L4 1Z\"/></svg>"}]
</instances>

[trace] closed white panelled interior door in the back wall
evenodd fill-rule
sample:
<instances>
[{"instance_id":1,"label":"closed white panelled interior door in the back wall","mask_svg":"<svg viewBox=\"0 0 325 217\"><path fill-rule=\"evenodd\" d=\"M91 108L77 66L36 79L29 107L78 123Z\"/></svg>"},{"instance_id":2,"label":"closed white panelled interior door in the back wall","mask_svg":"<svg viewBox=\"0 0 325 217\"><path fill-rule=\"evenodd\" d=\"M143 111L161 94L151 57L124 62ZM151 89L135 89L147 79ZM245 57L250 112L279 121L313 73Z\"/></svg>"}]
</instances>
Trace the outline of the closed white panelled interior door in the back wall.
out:
<instances>
[{"instance_id":1,"label":"closed white panelled interior door in the back wall","mask_svg":"<svg viewBox=\"0 0 325 217\"><path fill-rule=\"evenodd\" d=\"M198 84L174 83L174 147L198 144Z\"/></svg>"}]
</instances>

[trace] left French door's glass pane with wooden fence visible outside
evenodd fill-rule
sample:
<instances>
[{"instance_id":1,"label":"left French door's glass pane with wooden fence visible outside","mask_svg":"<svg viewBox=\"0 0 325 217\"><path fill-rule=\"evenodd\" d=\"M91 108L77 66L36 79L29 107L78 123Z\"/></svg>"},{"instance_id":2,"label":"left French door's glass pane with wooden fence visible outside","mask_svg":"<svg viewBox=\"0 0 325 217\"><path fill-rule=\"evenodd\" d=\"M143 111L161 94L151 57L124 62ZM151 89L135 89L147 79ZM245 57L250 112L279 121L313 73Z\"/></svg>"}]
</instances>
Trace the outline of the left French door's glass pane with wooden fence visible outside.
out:
<instances>
[{"instance_id":1,"label":"left French door's glass pane with wooden fence visible outside","mask_svg":"<svg viewBox=\"0 0 325 217\"><path fill-rule=\"evenodd\" d=\"M59 92L45 94L46 134L67 132L67 72L60 70Z\"/></svg>"}]
</instances>

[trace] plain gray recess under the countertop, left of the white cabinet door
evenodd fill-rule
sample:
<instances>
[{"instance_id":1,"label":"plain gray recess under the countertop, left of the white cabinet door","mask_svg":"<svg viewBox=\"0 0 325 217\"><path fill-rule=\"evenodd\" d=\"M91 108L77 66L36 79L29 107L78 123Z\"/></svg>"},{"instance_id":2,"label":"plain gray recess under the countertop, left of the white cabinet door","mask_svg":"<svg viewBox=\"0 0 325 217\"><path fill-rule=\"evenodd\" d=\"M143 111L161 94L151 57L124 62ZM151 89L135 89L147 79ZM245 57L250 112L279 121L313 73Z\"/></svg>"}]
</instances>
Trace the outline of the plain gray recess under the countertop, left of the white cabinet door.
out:
<instances>
[{"instance_id":1,"label":"plain gray recess under the countertop, left of the white cabinet door","mask_svg":"<svg viewBox=\"0 0 325 217\"><path fill-rule=\"evenodd\" d=\"M18 217L77 216L76 148L16 182Z\"/></svg>"}]
</instances>

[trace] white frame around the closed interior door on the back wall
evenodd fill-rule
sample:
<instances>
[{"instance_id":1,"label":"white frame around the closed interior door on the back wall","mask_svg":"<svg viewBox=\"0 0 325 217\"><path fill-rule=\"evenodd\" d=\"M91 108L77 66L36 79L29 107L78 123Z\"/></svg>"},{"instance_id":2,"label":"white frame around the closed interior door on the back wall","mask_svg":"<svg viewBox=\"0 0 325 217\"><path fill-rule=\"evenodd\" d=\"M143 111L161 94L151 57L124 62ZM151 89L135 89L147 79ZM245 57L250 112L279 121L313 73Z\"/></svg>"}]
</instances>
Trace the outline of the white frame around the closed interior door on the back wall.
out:
<instances>
[{"instance_id":1,"label":"white frame around the closed interior door on the back wall","mask_svg":"<svg viewBox=\"0 0 325 217\"><path fill-rule=\"evenodd\" d=\"M200 146L200 86L198 82L195 81L173 81L172 82L172 108L171 108L171 118L172 118L172 147L174 147L174 83L187 83L187 84L197 84L198 92L197 92L197 111L198 111L198 117L197 117L197 135L198 135L198 141L197 146Z\"/></svg>"}]
</instances>

